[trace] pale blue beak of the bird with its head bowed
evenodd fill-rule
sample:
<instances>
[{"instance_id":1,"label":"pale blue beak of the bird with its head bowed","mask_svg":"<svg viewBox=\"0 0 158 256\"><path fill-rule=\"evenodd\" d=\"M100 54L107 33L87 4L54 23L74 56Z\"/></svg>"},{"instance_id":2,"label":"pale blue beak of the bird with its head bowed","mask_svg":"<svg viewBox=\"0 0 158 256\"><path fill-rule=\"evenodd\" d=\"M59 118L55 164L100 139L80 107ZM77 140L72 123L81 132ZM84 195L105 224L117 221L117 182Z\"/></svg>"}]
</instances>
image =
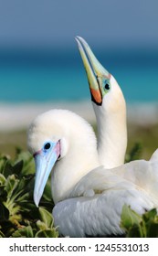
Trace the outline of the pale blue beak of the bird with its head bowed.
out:
<instances>
[{"instance_id":1,"label":"pale blue beak of the bird with its head bowed","mask_svg":"<svg viewBox=\"0 0 158 256\"><path fill-rule=\"evenodd\" d=\"M48 176L56 164L59 155L59 142L53 144L49 152L44 152L40 150L35 155L36 164L36 177L35 177L35 187L34 187L34 202L38 207L40 198L43 195L44 188L47 184Z\"/></svg>"}]
</instances>

